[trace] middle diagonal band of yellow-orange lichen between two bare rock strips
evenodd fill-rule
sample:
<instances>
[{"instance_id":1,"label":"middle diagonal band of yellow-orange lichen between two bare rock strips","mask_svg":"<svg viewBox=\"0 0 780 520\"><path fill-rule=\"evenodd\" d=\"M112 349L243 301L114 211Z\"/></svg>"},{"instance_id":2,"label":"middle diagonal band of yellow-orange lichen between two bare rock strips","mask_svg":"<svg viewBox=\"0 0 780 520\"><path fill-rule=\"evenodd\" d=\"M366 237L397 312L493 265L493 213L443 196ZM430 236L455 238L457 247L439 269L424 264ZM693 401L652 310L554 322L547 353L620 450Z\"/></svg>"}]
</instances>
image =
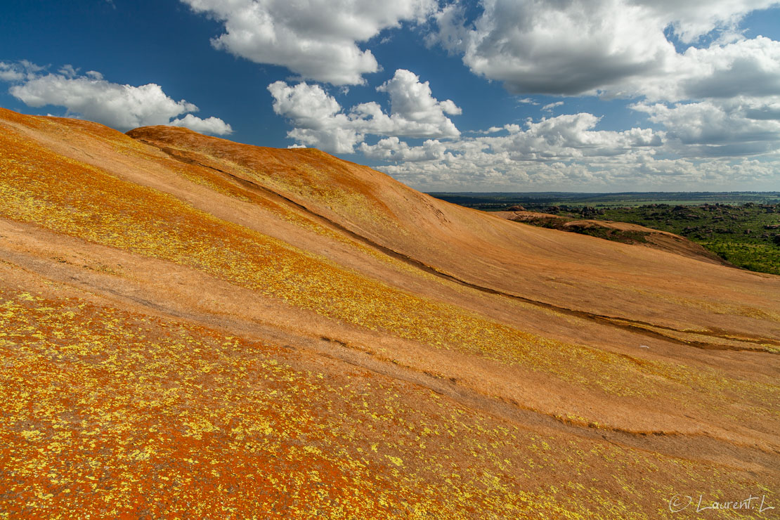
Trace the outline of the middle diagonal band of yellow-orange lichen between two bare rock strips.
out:
<instances>
[{"instance_id":1,"label":"middle diagonal band of yellow-orange lichen between two bare rock strips","mask_svg":"<svg viewBox=\"0 0 780 520\"><path fill-rule=\"evenodd\" d=\"M724 377L714 370L693 374L672 363L640 366L628 356L517 331L400 291L195 210L174 196L54 154L14 132L2 136L0 147L0 215L6 218L196 267L371 331L519 365L609 394L668 393L684 400L681 391L698 393L704 386L729 389L758 403L776 400L777 388L771 385ZM658 377L645 377L647 373ZM760 405L756 413L763 409Z\"/></svg>"}]
</instances>

